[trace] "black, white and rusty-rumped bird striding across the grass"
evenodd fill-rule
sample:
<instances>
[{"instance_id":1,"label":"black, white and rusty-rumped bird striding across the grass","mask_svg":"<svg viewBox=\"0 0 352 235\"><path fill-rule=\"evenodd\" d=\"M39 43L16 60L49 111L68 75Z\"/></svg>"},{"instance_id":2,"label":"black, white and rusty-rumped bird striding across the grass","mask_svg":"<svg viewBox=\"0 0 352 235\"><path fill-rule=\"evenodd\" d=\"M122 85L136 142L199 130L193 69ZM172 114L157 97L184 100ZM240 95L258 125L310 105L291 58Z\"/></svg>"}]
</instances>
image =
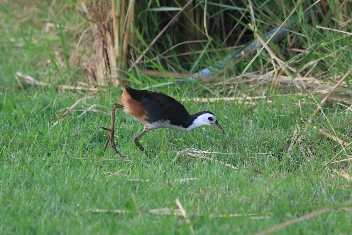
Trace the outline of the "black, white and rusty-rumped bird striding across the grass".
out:
<instances>
[{"instance_id":1,"label":"black, white and rusty-rumped bird striding across the grass","mask_svg":"<svg viewBox=\"0 0 352 235\"><path fill-rule=\"evenodd\" d=\"M110 128L101 127L109 131L109 137L105 143L104 151L107 145L111 144L115 153L119 154L115 147L115 110L123 109L125 113L131 115L139 122L144 124L144 129L137 135L133 141L136 146L149 157L147 151L139 143L140 137L146 132L167 128L178 131L191 131L200 126L217 126L225 134L224 129L219 125L218 119L210 111L201 111L190 115L186 108L174 98L163 93L132 89L125 81L120 80L122 95L120 103L112 104L111 107L111 126ZM122 155L121 155L122 156Z\"/></svg>"}]
</instances>

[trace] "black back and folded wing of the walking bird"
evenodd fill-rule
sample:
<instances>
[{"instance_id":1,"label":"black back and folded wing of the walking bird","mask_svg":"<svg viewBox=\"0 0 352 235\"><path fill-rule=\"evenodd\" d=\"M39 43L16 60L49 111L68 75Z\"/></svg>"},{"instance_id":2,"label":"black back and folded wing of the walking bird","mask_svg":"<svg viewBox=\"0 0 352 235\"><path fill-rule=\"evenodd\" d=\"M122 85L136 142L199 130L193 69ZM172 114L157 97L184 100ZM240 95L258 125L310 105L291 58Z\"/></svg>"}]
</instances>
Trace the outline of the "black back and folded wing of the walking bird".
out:
<instances>
[{"instance_id":1,"label":"black back and folded wing of the walking bird","mask_svg":"<svg viewBox=\"0 0 352 235\"><path fill-rule=\"evenodd\" d=\"M126 92L132 99L141 102L147 111L147 122L158 122L170 120L170 124L187 128L193 122L191 115L183 105L163 93L136 90L126 86Z\"/></svg>"}]
</instances>

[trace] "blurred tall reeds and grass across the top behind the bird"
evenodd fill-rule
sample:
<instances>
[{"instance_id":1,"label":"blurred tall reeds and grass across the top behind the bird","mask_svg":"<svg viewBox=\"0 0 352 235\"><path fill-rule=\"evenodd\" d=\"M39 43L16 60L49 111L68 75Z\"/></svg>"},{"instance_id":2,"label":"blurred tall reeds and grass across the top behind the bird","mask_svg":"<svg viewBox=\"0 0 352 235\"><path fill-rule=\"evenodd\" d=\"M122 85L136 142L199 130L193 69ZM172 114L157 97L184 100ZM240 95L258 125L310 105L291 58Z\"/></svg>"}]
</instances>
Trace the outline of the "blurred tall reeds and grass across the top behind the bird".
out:
<instances>
[{"instance_id":1,"label":"blurred tall reeds and grass across the top behind the bird","mask_svg":"<svg viewBox=\"0 0 352 235\"><path fill-rule=\"evenodd\" d=\"M163 72L187 77L205 67L233 78L285 20L288 33L246 72L319 81L350 68L351 36L316 27L351 32L350 1L4 1L1 9L1 50L11 55L2 60L24 56L22 73L37 67L30 75L54 84L117 86L116 76L155 83L170 77ZM258 47L244 50L251 43Z\"/></svg>"}]
</instances>

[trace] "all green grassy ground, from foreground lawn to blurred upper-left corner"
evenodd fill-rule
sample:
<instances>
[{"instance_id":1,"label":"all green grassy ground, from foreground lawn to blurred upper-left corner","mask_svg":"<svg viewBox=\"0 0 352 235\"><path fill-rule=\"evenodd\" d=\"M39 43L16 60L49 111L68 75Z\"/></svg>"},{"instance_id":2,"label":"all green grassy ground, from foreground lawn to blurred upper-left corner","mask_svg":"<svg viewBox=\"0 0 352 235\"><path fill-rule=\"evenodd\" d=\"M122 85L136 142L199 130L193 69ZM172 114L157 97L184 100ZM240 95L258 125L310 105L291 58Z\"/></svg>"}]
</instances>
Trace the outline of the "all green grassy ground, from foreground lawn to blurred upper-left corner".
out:
<instances>
[{"instance_id":1,"label":"all green grassy ground, from foreground lawn to blurred upper-left corner","mask_svg":"<svg viewBox=\"0 0 352 235\"><path fill-rule=\"evenodd\" d=\"M342 148L314 129L350 121L351 111L345 106L328 101L308 123L322 100L319 96L285 91L286 96L256 99L253 104L198 103L187 99L214 97L226 86L195 82L185 89L174 80L150 79L133 86L186 99L182 103L190 113L212 111L226 134L210 127L187 133L151 131L140 141L150 160L132 141L142 126L117 110L116 146L127 156L121 158L111 148L102 151L108 133L100 129L109 126L108 109L118 101L120 89L106 88L91 96L58 89L58 84L73 83L83 73L56 67L58 58L64 61L65 56L50 48L62 45L60 30L56 36L43 36L43 22L55 17L45 14L46 5L36 7L39 23L33 16L24 22L13 18L22 13L19 6L1 7L0 22L7 37L0 39L0 234L255 234L263 230L266 234L265 229L272 227L271 234L350 233L351 202L344 204L352 196L349 163L324 168ZM56 17L62 14L58 22L66 22L70 6L66 10L56 13ZM307 40L312 52L293 56L301 62L296 68L303 70L311 61L322 61L315 69L327 68L333 61L325 75L342 76L350 64L346 49L350 39L322 33L326 35L319 38L326 44ZM325 54L318 53L322 50ZM258 64L265 58L260 57ZM18 82L17 72L50 86L29 85L21 77ZM242 95L267 89L238 88L227 88L228 96L240 100ZM350 88L348 83L345 88ZM271 91L279 94L279 89ZM57 124L50 120L82 98L74 110L92 105L107 109L96 106L97 112L81 116L82 111L70 112ZM326 132L344 140L349 127ZM295 130L305 138L288 151L292 141L284 143L295 136ZM212 153L192 156L185 151L173 161L179 151L190 147ZM351 155L351 150L346 153ZM346 169L345 178L336 173L341 169ZM171 215L150 211L162 208L169 208Z\"/></svg>"}]
</instances>

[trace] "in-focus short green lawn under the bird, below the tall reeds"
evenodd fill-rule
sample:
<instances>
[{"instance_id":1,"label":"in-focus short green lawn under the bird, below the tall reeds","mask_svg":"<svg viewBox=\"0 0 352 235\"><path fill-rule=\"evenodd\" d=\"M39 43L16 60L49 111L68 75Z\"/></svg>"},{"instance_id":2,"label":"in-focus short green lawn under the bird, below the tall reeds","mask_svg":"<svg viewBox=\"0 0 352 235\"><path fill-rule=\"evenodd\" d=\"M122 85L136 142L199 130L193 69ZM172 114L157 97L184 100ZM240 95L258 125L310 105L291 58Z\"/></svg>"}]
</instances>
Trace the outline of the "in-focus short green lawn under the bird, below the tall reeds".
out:
<instances>
[{"instance_id":1,"label":"in-focus short green lawn under the bird, below the tall reeds","mask_svg":"<svg viewBox=\"0 0 352 235\"><path fill-rule=\"evenodd\" d=\"M171 89L163 90L172 93ZM114 90L109 98L101 96L87 103L109 106L117 93ZM59 109L78 98L47 88L1 93L1 234L190 233L182 216L148 212L165 207L178 209L176 199L181 201L197 234L251 234L351 198L351 184L322 169L334 155L336 142L313 134L294 148L293 156L281 148L300 118L292 100L299 98L295 95L277 99L274 104L259 101L255 107L185 102L193 112L211 110L218 115L226 135L215 128L188 133L151 131L141 143L155 160L147 159L134 146L132 139L142 126L121 110L117 110L116 142L121 154L128 155L126 158L114 154L111 148L102 152L107 132L99 127L109 125L109 116L102 112L88 112L80 118L73 112L52 127L49 119L62 114ZM315 106L308 102L313 100L307 99L302 112L308 116ZM326 115L337 120L334 124L347 121L338 108L327 110ZM314 125L329 128L325 122ZM313 132L311 127L308 130ZM342 128L337 131L344 133ZM185 154L172 163L177 151L191 146L212 148L214 152L260 154L210 155L237 166L237 170L205 159L187 159ZM312 157L303 155L307 148L313 151ZM112 160L89 160L92 158ZM107 178L121 169L120 174ZM197 179L166 183L183 178ZM128 212L93 214L92 209ZM220 217L229 214L243 216ZM268 218L253 219L246 214ZM347 234L351 222L349 211L333 210L277 234Z\"/></svg>"}]
</instances>

